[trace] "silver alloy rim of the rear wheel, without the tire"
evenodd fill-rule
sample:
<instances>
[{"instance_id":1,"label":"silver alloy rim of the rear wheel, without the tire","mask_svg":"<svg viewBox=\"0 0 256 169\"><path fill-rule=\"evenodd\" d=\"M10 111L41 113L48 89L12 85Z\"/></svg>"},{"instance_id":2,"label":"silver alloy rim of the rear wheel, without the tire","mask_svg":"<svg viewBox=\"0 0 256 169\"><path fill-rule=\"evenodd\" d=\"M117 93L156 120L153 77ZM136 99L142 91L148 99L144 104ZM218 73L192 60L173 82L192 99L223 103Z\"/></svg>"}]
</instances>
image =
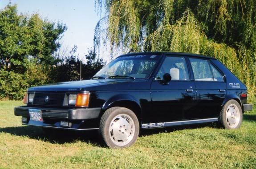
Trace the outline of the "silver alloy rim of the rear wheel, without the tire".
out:
<instances>
[{"instance_id":1,"label":"silver alloy rim of the rear wheel, without the tire","mask_svg":"<svg viewBox=\"0 0 256 169\"><path fill-rule=\"evenodd\" d=\"M226 121L228 126L236 128L240 122L240 111L235 104L230 104L226 110Z\"/></svg>"}]
</instances>

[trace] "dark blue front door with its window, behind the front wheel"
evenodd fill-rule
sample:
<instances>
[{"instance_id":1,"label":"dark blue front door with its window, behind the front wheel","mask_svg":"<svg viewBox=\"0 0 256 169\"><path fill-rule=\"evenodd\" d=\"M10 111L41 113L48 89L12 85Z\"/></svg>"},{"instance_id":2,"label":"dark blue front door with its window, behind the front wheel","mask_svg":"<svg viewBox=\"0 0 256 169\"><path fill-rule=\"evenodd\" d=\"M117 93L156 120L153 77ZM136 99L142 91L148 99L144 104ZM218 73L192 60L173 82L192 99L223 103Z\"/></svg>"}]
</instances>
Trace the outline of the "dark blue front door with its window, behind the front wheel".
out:
<instances>
[{"instance_id":1,"label":"dark blue front door with its window, behind the front wheel","mask_svg":"<svg viewBox=\"0 0 256 169\"><path fill-rule=\"evenodd\" d=\"M195 83L191 81L184 56L167 55L151 84L152 110L148 122L185 120L196 106ZM163 75L171 81L163 83Z\"/></svg>"}]
</instances>

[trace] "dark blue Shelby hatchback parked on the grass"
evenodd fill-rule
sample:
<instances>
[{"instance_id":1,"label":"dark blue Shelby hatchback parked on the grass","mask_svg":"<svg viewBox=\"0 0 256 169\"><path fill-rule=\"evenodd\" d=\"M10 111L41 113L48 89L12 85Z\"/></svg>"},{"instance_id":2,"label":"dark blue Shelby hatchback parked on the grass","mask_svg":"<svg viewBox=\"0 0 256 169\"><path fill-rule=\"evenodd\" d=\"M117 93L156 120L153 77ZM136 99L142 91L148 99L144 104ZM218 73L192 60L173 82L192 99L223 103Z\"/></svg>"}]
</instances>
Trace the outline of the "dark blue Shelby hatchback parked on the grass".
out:
<instances>
[{"instance_id":1,"label":"dark blue Shelby hatchback parked on the grass","mask_svg":"<svg viewBox=\"0 0 256 169\"><path fill-rule=\"evenodd\" d=\"M111 148L127 147L139 130L205 122L242 124L246 86L212 57L170 52L121 55L92 79L28 89L15 108L22 124L98 130Z\"/></svg>"}]
</instances>

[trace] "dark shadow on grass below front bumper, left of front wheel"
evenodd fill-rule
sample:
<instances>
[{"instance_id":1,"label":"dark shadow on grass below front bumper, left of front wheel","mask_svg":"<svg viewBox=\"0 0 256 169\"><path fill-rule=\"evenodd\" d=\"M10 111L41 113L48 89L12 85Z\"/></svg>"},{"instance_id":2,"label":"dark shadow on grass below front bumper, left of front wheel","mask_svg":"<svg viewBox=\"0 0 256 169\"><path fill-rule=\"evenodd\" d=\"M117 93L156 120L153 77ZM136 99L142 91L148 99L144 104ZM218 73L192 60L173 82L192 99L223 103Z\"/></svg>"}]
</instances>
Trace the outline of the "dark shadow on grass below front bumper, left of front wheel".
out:
<instances>
[{"instance_id":1,"label":"dark shadow on grass below front bumper, left of front wheel","mask_svg":"<svg viewBox=\"0 0 256 169\"><path fill-rule=\"evenodd\" d=\"M104 146L99 139L97 131L53 130L52 132L45 133L40 127L18 126L0 128L0 133L24 136L36 140L50 142L53 144L65 144L82 141L95 146Z\"/></svg>"}]
</instances>

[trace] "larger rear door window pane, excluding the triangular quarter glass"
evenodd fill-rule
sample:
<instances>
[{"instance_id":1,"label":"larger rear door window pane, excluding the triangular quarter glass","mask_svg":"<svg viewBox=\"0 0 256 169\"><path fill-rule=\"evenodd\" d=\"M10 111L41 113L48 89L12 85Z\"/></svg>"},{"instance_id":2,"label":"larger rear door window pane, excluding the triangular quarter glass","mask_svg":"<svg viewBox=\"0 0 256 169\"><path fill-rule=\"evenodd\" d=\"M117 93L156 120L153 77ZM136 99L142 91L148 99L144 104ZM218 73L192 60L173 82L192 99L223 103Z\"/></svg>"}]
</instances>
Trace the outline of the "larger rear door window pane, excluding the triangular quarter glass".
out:
<instances>
[{"instance_id":1,"label":"larger rear door window pane, excluding the triangular quarter glass","mask_svg":"<svg viewBox=\"0 0 256 169\"><path fill-rule=\"evenodd\" d=\"M207 60L189 58L196 81L213 81Z\"/></svg>"}]
</instances>

